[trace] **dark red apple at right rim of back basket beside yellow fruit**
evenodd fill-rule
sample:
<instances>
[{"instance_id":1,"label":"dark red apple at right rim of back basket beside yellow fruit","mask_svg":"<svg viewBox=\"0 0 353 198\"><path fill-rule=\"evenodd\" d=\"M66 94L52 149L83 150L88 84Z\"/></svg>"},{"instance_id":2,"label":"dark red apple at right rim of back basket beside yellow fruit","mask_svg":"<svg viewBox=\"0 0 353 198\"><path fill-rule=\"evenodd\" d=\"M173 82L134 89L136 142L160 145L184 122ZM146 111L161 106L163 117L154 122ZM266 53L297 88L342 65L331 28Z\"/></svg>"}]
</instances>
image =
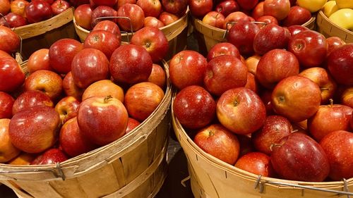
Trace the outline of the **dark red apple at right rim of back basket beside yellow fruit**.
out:
<instances>
[{"instance_id":1,"label":"dark red apple at right rim of back basket beside yellow fruit","mask_svg":"<svg viewBox=\"0 0 353 198\"><path fill-rule=\"evenodd\" d=\"M306 8L293 6L290 8L288 16L282 21L282 25L289 27L291 25L303 25L311 19L311 13Z\"/></svg>"}]
</instances>

